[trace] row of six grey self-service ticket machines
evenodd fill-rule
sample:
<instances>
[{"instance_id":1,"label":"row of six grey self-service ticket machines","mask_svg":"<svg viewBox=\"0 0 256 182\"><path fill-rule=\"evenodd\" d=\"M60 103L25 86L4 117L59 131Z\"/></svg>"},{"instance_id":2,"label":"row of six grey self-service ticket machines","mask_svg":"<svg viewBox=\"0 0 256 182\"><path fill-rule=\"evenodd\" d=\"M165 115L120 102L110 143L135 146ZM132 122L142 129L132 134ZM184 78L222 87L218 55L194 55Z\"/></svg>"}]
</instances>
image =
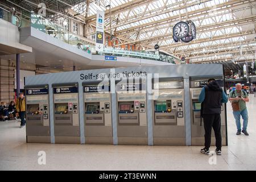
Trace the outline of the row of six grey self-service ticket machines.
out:
<instances>
[{"instance_id":1,"label":"row of six grey self-service ticket machines","mask_svg":"<svg viewBox=\"0 0 256 182\"><path fill-rule=\"evenodd\" d=\"M221 82L221 80L220 80ZM204 126L198 96L205 78L191 78L191 142L204 144ZM84 82L85 143L113 144L112 94L109 82ZM80 143L78 84L25 86L27 142L51 142L49 100L53 100L55 143ZM152 113L155 145L185 145L183 77L152 80L152 108L147 109L146 80L116 82L118 144L148 143L147 112ZM222 143L226 144L226 119L222 107ZM152 110L151 110L152 109ZM213 132L212 132L213 133ZM214 134L212 135L214 137ZM214 144L214 140L212 140Z\"/></svg>"}]
</instances>

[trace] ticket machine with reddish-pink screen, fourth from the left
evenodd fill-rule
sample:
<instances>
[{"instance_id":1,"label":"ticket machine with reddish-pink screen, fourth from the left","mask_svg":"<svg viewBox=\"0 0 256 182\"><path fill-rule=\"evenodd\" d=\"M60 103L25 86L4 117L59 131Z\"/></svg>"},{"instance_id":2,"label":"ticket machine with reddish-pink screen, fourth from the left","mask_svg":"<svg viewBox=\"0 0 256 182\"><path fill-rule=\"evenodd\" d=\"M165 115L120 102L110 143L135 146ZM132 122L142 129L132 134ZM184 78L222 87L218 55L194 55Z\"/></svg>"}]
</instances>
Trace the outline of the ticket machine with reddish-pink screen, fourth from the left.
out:
<instances>
[{"instance_id":1,"label":"ticket machine with reddish-pink screen, fourth from the left","mask_svg":"<svg viewBox=\"0 0 256 182\"><path fill-rule=\"evenodd\" d=\"M116 90L118 144L147 144L146 80L122 80Z\"/></svg>"}]
</instances>

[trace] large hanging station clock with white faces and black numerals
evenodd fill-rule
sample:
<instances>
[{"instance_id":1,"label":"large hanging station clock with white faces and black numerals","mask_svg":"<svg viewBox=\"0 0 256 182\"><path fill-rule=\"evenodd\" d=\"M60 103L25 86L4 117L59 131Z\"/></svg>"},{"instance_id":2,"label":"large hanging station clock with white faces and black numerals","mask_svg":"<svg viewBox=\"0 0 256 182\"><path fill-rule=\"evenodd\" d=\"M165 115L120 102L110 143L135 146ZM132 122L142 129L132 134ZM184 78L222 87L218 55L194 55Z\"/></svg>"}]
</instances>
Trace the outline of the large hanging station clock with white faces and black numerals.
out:
<instances>
[{"instance_id":1,"label":"large hanging station clock with white faces and black numerals","mask_svg":"<svg viewBox=\"0 0 256 182\"><path fill-rule=\"evenodd\" d=\"M196 39L196 26L189 20L187 22L178 22L173 29L174 42L191 42Z\"/></svg>"}]
</instances>

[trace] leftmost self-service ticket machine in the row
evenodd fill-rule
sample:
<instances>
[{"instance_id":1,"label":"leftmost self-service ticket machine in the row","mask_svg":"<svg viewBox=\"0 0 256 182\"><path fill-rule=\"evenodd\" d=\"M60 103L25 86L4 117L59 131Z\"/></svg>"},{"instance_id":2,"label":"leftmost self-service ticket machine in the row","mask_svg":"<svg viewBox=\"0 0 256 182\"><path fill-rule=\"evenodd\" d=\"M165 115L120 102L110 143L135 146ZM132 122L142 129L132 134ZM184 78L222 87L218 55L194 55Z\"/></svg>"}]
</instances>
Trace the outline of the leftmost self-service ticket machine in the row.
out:
<instances>
[{"instance_id":1,"label":"leftmost self-service ticket machine in the row","mask_svg":"<svg viewBox=\"0 0 256 182\"><path fill-rule=\"evenodd\" d=\"M27 142L51 143L48 85L24 86Z\"/></svg>"}]
</instances>

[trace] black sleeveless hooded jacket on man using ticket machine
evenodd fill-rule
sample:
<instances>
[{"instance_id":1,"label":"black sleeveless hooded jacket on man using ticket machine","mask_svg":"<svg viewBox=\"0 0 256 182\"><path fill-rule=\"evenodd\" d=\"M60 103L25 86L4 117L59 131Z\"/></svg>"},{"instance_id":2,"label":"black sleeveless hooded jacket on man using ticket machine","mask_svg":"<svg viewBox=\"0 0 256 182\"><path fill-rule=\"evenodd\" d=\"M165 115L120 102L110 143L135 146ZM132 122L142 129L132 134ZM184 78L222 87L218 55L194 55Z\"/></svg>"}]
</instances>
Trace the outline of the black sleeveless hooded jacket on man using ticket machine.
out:
<instances>
[{"instance_id":1,"label":"black sleeveless hooded jacket on man using ticket machine","mask_svg":"<svg viewBox=\"0 0 256 182\"><path fill-rule=\"evenodd\" d=\"M221 114L222 88L216 81L204 86L205 98L202 114Z\"/></svg>"}]
</instances>

